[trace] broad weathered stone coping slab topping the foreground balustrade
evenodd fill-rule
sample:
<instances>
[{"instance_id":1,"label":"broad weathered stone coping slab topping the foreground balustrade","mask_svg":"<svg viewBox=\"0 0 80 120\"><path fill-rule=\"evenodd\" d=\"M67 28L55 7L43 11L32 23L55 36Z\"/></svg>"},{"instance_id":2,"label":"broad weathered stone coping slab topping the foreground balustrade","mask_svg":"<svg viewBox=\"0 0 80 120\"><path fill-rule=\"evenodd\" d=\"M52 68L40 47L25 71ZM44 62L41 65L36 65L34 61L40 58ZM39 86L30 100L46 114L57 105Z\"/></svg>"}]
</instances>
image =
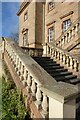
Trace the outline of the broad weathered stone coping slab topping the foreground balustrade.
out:
<instances>
[{"instance_id":1,"label":"broad weathered stone coping slab topping the foreground balustrade","mask_svg":"<svg viewBox=\"0 0 80 120\"><path fill-rule=\"evenodd\" d=\"M80 93L78 86L64 82L56 82L37 62L35 62L28 54L24 54L22 49L9 38L4 38L19 56L23 64L26 66L34 80L40 85L40 89L52 98L65 103L70 99L75 99Z\"/></svg>"}]
</instances>

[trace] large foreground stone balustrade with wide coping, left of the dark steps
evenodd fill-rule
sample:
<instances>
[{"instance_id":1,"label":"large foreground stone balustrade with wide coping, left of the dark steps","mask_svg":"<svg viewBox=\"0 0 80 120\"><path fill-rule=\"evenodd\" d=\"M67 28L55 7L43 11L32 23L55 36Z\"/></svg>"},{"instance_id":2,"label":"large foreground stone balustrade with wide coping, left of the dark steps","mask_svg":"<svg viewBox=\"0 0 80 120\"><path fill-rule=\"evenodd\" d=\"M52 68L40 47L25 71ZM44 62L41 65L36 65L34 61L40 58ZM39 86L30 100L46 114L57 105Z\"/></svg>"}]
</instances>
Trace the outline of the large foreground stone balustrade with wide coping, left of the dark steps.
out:
<instances>
[{"instance_id":1,"label":"large foreground stone balustrade with wide coping, left of the dark steps","mask_svg":"<svg viewBox=\"0 0 80 120\"><path fill-rule=\"evenodd\" d=\"M28 54L24 54L22 49L19 48L14 41L7 38L4 38L4 41L4 53L7 54L8 59L10 59L15 71L20 77L20 81L25 85L27 92L29 94L31 93L32 99L43 117L46 117L49 113L49 118L51 116L55 118L55 112L51 114L50 104L52 100L58 101L60 104L66 104L76 99L79 92L76 86L56 82L55 79ZM52 104L55 105L54 102ZM62 110L61 112L63 113L64 111Z\"/></svg>"}]
</instances>

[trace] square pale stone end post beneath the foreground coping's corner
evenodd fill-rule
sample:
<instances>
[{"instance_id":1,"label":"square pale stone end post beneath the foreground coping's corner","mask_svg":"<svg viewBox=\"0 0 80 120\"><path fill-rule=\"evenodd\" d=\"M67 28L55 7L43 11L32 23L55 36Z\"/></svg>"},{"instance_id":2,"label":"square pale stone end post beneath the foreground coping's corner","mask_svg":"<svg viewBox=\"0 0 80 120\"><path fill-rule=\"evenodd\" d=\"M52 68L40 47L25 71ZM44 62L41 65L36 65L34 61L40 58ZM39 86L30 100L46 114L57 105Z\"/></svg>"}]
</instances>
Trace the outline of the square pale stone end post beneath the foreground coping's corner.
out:
<instances>
[{"instance_id":1,"label":"square pale stone end post beneath the foreground coping's corner","mask_svg":"<svg viewBox=\"0 0 80 120\"><path fill-rule=\"evenodd\" d=\"M76 118L75 99L64 103L49 97L49 118Z\"/></svg>"}]
</instances>

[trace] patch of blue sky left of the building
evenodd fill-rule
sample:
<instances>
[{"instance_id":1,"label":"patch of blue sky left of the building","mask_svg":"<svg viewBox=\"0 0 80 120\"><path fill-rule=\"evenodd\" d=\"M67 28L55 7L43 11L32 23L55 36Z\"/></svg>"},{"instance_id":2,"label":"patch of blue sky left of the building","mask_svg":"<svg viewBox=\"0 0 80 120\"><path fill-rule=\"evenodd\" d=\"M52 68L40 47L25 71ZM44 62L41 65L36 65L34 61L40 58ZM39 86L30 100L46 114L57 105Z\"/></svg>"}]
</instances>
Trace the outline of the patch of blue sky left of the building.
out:
<instances>
[{"instance_id":1,"label":"patch of blue sky left of the building","mask_svg":"<svg viewBox=\"0 0 80 120\"><path fill-rule=\"evenodd\" d=\"M11 33L18 30L18 2L2 2L0 3L0 36L10 37Z\"/></svg>"}]
</instances>

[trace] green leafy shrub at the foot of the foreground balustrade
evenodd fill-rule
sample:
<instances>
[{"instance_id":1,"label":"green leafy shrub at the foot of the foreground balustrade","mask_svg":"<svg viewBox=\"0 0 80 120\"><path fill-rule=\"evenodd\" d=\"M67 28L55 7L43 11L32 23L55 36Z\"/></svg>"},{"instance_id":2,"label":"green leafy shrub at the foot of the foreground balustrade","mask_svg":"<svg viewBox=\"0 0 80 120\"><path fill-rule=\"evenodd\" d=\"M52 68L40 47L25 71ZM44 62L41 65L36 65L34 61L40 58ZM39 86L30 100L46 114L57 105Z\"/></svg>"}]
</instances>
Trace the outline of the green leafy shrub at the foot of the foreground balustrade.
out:
<instances>
[{"instance_id":1,"label":"green leafy shrub at the foot of the foreground balustrade","mask_svg":"<svg viewBox=\"0 0 80 120\"><path fill-rule=\"evenodd\" d=\"M26 109L20 91L2 78L2 120L25 120Z\"/></svg>"}]
</instances>

